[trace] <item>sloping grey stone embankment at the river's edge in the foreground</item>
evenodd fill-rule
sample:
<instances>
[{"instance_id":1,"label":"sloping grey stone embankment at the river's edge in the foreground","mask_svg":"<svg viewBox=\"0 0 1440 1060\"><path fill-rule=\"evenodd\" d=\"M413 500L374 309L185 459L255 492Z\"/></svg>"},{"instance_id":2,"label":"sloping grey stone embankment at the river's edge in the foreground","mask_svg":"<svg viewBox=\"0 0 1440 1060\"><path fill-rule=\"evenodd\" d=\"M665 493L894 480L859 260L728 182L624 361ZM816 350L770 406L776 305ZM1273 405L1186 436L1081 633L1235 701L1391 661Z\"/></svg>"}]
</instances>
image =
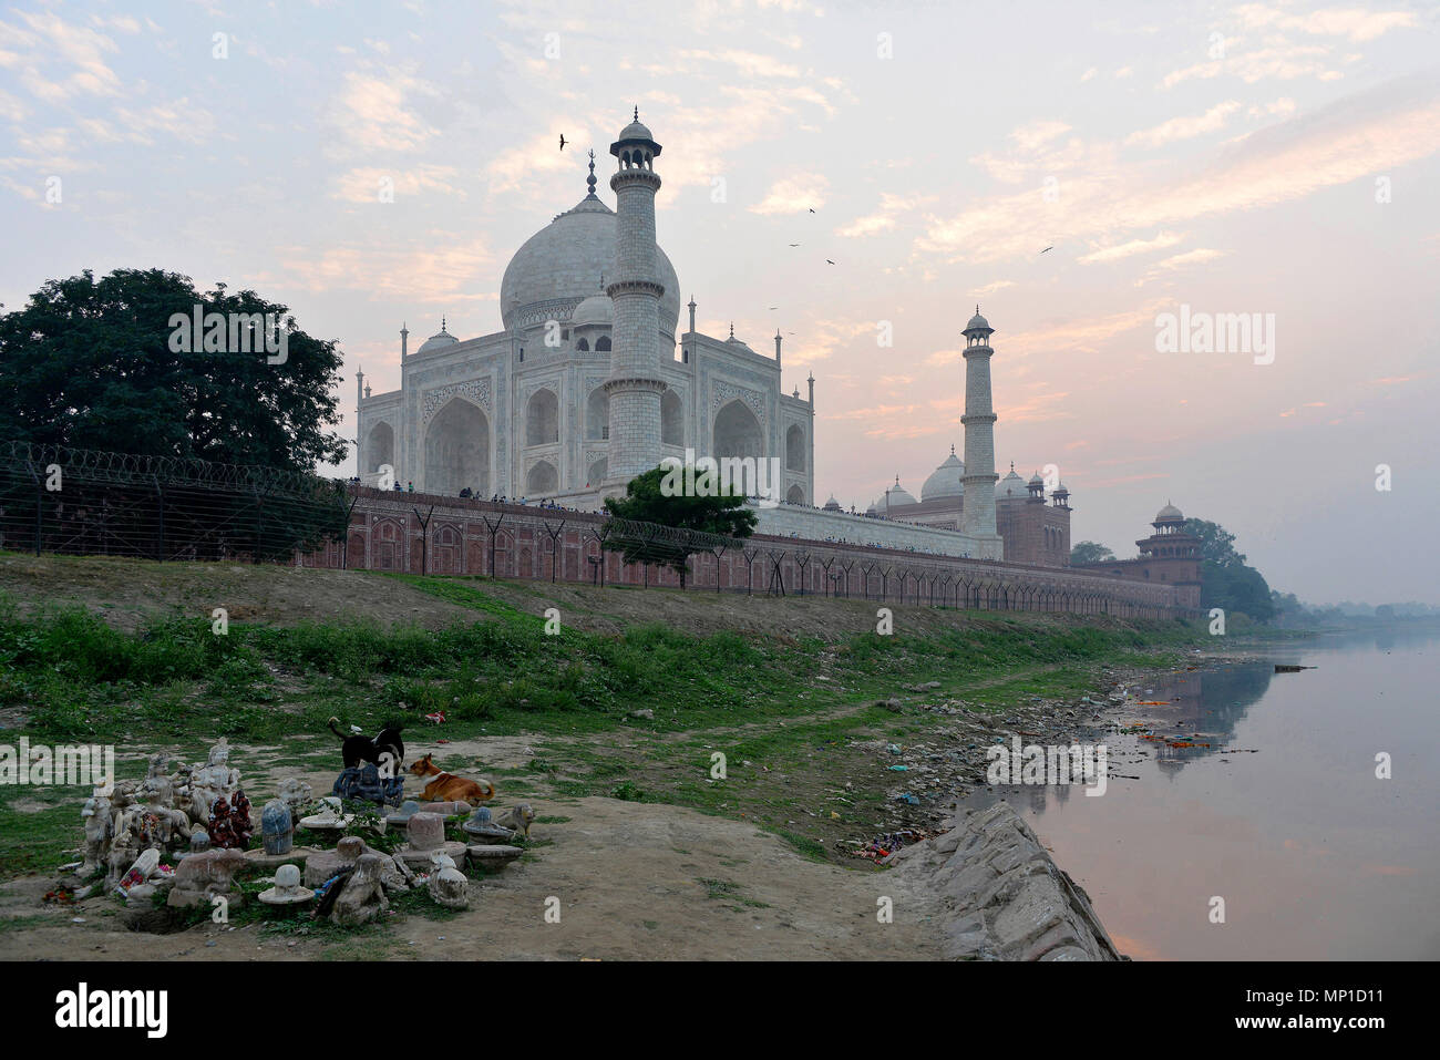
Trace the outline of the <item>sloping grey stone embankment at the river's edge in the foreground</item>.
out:
<instances>
[{"instance_id":1,"label":"sloping grey stone embankment at the river's edge in the foreground","mask_svg":"<svg viewBox=\"0 0 1440 1060\"><path fill-rule=\"evenodd\" d=\"M946 909L955 961L1123 961L1090 899L1004 802L959 808L950 831L887 864Z\"/></svg>"}]
</instances>

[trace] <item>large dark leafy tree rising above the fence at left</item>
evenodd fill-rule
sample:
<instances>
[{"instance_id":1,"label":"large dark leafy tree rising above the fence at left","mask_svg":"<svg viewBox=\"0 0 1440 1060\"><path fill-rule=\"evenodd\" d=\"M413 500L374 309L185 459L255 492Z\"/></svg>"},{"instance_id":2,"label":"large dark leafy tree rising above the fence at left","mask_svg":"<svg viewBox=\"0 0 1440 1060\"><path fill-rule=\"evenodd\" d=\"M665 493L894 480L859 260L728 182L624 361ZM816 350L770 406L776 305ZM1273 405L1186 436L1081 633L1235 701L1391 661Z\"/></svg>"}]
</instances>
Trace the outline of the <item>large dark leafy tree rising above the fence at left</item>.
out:
<instances>
[{"instance_id":1,"label":"large dark leafy tree rising above the fence at left","mask_svg":"<svg viewBox=\"0 0 1440 1060\"><path fill-rule=\"evenodd\" d=\"M253 353L176 350L177 315L274 314L284 363ZM199 336L196 336L199 338ZM197 457L310 471L338 462L341 354L298 330L288 307L223 284L197 291L161 269L86 269L52 279L0 315L0 439Z\"/></svg>"}]
</instances>

